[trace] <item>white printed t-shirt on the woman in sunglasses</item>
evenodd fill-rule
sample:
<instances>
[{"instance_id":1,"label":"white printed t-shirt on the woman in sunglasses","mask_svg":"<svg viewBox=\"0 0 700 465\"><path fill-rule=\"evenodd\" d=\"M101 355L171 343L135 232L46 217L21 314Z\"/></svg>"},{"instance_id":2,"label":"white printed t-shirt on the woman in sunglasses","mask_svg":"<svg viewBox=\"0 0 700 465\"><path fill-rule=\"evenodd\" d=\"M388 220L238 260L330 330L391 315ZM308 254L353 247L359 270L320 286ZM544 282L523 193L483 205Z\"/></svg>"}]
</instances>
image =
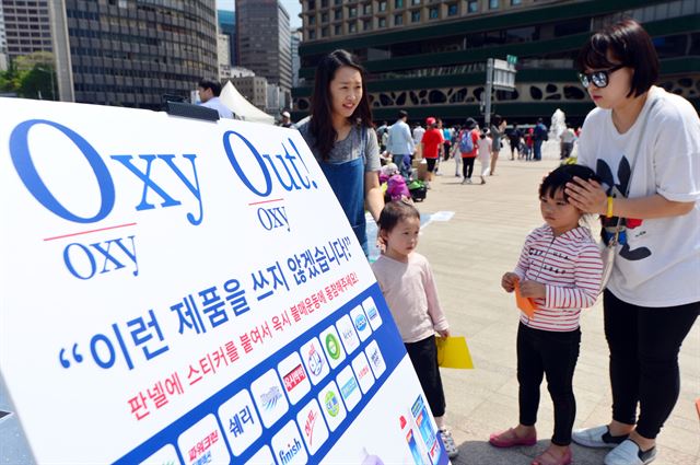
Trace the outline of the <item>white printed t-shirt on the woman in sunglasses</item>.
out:
<instances>
[{"instance_id":1,"label":"white printed t-shirt on the woman in sunglasses","mask_svg":"<svg viewBox=\"0 0 700 465\"><path fill-rule=\"evenodd\" d=\"M649 112L651 103L658 100ZM644 133L643 118L649 113ZM639 153L632 153L641 139ZM658 194L691 202L681 217L641 220L618 246L607 288L625 302L650 307L700 301L700 119L685 98L653 86L634 125L619 133L609 109L595 108L579 139L579 163L595 170L606 188L630 198Z\"/></svg>"}]
</instances>

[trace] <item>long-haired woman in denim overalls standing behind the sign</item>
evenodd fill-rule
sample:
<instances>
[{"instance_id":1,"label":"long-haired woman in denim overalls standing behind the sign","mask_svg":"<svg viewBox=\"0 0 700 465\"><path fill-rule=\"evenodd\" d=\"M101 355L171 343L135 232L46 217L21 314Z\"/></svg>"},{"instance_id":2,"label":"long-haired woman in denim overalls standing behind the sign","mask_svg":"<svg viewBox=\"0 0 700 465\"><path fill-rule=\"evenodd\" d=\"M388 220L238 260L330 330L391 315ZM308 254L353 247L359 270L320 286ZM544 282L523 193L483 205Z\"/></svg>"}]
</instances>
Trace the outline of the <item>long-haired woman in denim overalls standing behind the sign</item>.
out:
<instances>
[{"instance_id":1,"label":"long-haired woman in denim overalls standing behind the sign","mask_svg":"<svg viewBox=\"0 0 700 465\"><path fill-rule=\"evenodd\" d=\"M318 62L311 115L298 125L352 231L369 254L364 206L380 218L384 196L380 187L380 148L372 128L372 111L364 69L346 50Z\"/></svg>"}]
</instances>

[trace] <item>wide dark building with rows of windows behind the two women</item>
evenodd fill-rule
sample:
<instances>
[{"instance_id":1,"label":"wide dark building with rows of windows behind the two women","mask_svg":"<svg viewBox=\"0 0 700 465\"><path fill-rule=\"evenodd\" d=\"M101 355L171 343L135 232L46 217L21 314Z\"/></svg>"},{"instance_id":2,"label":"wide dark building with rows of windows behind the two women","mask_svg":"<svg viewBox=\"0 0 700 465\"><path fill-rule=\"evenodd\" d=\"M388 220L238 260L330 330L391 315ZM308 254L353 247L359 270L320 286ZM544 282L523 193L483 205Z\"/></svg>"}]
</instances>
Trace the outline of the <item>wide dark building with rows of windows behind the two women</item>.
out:
<instances>
[{"instance_id":1,"label":"wide dark building with rows of windows behind the two women","mask_svg":"<svg viewBox=\"0 0 700 465\"><path fill-rule=\"evenodd\" d=\"M410 117L458 123L480 117L489 58L518 57L515 92L495 91L492 112L518 123L557 108L572 123L593 103L579 83L575 57L604 24L640 21L661 58L669 91L700 106L700 2L697 0L304 0L302 82L296 118L310 107L315 65L346 48L369 72L375 120ZM313 8L312 8L313 7ZM337 34L336 34L337 33Z\"/></svg>"}]
</instances>

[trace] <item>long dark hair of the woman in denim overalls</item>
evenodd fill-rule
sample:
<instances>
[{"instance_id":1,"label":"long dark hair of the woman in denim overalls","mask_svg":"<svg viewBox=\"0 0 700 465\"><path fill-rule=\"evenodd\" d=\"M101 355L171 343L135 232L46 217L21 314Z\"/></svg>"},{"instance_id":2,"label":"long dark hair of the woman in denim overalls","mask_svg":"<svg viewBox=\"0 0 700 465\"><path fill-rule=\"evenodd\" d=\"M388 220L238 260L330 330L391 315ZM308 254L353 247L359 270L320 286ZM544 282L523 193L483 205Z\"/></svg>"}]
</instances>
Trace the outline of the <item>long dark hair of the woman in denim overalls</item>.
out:
<instances>
[{"instance_id":1,"label":"long dark hair of the woman in denim overalls","mask_svg":"<svg viewBox=\"0 0 700 465\"><path fill-rule=\"evenodd\" d=\"M352 125L372 127L372 111L368 96L364 68L358 63L354 56L346 50L335 50L322 58L314 78L314 93L311 98L311 133L316 139L316 149L324 160L328 160L332 146L338 139L338 132L332 127L332 107L330 96L330 81L340 67L351 67L360 71L362 77L362 98L348 120Z\"/></svg>"}]
</instances>

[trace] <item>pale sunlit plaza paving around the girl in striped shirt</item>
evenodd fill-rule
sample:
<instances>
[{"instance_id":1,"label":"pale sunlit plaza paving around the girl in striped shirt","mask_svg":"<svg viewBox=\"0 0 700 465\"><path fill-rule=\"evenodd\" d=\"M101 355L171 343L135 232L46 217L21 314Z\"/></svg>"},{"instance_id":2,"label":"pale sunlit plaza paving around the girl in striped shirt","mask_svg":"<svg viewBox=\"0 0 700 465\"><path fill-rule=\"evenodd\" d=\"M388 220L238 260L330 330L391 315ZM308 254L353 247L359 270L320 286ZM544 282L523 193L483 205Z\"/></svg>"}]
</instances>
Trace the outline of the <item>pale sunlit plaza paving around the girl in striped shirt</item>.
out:
<instances>
[{"instance_id":1,"label":"pale sunlit plaza paving around the girl in striped shirt","mask_svg":"<svg viewBox=\"0 0 700 465\"><path fill-rule=\"evenodd\" d=\"M486 185L462 185L454 176L454 162L447 161L428 198L417 204L421 212L455 212L451 221L424 228L418 247L433 267L451 329L467 337L476 367L442 371L447 421L459 447L455 464L529 464L546 449L552 433L552 406L542 384L537 423L540 441L512 450L497 450L488 443L489 433L517 423L518 315L513 295L500 282L502 274L515 266L526 234L542 223L537 188L559 163L556 148L548 149L541 162L510 161L510 151L508 155L502 151L495 176L488 177ZM582 333L574 375L574 428L603 425L610 417L600 302L583 312ZM700 421L695 408L695 398L700 397L700 324L681 348L680 365L680 398L658 438L660 455L654 462L658 465L700 465ZM605 453L574 445L574 464L599 465Z\"/></svg>"}]
</instances>

